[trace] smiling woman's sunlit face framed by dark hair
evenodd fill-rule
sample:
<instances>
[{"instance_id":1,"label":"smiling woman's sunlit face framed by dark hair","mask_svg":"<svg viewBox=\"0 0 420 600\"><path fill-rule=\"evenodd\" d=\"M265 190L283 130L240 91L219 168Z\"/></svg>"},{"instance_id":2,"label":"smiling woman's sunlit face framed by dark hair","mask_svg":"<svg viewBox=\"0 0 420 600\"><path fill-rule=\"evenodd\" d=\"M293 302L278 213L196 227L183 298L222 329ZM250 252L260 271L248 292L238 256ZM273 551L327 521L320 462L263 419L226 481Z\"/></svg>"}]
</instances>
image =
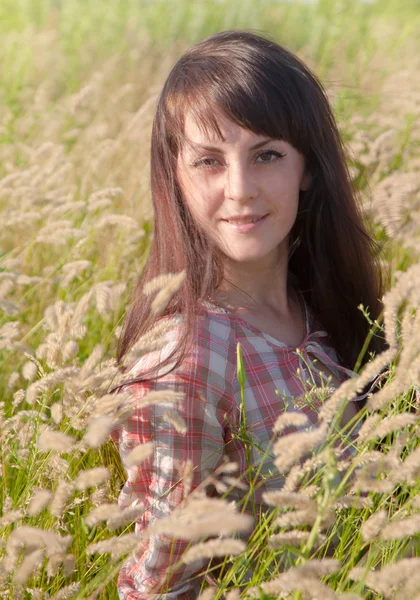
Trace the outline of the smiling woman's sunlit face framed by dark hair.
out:
<instances>
[{"instance_id":1,"label":"smiling woman's sunlit face framed by dark hair","mask_svg":"<svg viewBox=\"0 0 420 600\"><path fill-rule=\"evenodd\" d=\"M289 143L225 117L218 125L224 140L186 118L177 164L184 202L232 261L275 264L287 256L299 192L309 185L304 158Z\"/></svg>"}]
</instances>

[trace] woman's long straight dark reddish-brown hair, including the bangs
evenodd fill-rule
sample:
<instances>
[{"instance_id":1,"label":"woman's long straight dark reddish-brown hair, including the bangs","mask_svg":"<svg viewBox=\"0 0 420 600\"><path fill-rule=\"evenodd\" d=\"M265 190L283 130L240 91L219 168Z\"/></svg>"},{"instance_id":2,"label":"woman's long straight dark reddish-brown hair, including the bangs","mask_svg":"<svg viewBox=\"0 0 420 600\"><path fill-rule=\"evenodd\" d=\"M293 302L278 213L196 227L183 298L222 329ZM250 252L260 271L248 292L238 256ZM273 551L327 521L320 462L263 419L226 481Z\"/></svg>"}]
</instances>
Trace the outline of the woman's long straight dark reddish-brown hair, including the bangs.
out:
<instances>
[{"instance_id":1,"label":"woman's long straight dark reddish-brown hair, including the bangs","mask_svg":"<svg viewBox=\"0 0 420 600\"><path fill-rule=\"evenodd\" d=\"M358 306L363 304L372 319L382 309L378 248L363 223L322 85L291 52L244 31L217 33L189 48L160 94L151 142L153 240L125 319L118 360L153 325L151 299L142 294L145 283L185 270L181 289L161 315L184 317L178 366L192 343L200 302L223 278L220 253L193 221L176 177L187 114L220 137L216 115L222 114L256 134L285 140L304 156L311 185L300 192L289 271L339 360L353 368L369 333ZM368 350L383 346L382 338L373 336ZM367 358L366 353L362 364Z\"/></svg>"}]
</instances>

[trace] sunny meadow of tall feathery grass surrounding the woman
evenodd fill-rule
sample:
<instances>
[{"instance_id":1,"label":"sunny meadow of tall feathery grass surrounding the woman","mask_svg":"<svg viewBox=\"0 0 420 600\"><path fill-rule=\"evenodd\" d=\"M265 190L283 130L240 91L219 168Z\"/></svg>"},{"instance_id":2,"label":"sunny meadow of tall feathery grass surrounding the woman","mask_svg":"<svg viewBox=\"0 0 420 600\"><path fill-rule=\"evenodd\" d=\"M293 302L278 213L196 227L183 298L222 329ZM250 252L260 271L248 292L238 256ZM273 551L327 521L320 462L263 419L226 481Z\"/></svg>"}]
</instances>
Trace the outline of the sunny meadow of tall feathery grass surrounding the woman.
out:
<instances>
[{"instance_id":1,"label":"sunny meadow of tall feathery grass surrounding the woman","mask_svg":"<svg viewBox=\"0 0 420 600\"><path fill-rule=\"evenodd\" d=\"M153 235L151 120L182 51L229 28L272 35L328 91L388 273L371 324L389 350L325 398L320 453L307 458L315 438L296 439L293 460L278 447L285 486L247 543L203 542L228 556L201 598L420 598L418 2L0 0L1 598L118 598L139 540L135 511L116 507L125 474L109 439L129 398L108 392ZM337 412L383 369L343 459ZM230 468L208 535L212 511L230 510Z\"/></svg>"}]
</instances>

